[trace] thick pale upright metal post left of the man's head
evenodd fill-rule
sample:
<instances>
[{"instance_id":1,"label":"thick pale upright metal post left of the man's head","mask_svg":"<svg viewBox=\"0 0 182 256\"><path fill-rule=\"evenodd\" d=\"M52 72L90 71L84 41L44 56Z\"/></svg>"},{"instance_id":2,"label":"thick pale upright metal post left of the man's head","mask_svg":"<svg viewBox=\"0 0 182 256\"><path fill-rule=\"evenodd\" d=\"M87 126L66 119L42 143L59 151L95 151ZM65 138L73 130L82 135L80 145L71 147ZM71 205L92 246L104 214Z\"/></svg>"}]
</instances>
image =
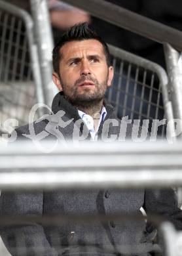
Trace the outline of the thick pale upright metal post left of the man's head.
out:
<instances>
[{"instance_id":1,"label":"thick pale upright metal post left of the man's head","mask_svg":"<svg viewBox=\"0 0 182 256\"><path fill-rule=\"evenodd\" d=\"M45 104L51 106L52 98L57 93L52 82L52 49L53 39L46 0L30 0L34 20L35 37L37 39L41 77L45 95Z\"/></svg>"}]
</instances>

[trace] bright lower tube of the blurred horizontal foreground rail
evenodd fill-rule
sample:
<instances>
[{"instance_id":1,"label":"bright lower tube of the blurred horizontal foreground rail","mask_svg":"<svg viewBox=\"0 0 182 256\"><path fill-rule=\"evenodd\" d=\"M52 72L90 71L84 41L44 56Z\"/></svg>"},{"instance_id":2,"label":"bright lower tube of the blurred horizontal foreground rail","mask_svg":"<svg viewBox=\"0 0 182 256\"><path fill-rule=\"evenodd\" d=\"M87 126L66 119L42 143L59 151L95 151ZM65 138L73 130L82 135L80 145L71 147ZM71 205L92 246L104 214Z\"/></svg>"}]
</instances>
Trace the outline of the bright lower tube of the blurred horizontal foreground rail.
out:
<instances>
[{"instance_id":1,"label":"bright lower tube of the blurred horizontal foreground rail","mask_svg":"<svg viewBox=\"0 0 182 256\"><path fill-rule=\"evenodd\" d=\"M34 168L33 168L34 169ZM143 169L128 171L13 171L0 173L1 190L54 190L105 188L162 188L182 185L181 169L162 171Z\"/></svg>"}]
</instances>

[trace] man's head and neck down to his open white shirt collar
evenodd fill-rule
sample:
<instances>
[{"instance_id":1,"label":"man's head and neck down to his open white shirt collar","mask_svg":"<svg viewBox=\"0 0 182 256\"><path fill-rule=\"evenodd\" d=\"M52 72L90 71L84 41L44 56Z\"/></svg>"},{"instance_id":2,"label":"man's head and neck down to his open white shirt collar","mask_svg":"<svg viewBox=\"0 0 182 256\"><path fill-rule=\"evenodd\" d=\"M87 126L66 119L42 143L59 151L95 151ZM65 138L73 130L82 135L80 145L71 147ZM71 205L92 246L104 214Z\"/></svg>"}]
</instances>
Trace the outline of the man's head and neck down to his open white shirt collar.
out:
<instances>
[{"instance_id":1,"label":"man's head and neck down to his open white shirt collar","mask_svg":"<svg viewBox=\"0 0 182 256\"><path fill-rule=\"evenodd\" d=\"M86 30L85 26L80 27L81 33ZM78 35L73 41L76 28L79 27L73 27L54 48L52 78L66 100L79 110L77 117L86 121L94 139L101 118L104 119L106 114L103 97L107 87L111 86L113 67L109 63L107 45L101 39L94 39L91 30L87 29L88 39L83 40L81 34L81 38ZM101 114L99 121L97 114ZM70 117L73 117L72 113Z\"/></svg>"}]
</instances>

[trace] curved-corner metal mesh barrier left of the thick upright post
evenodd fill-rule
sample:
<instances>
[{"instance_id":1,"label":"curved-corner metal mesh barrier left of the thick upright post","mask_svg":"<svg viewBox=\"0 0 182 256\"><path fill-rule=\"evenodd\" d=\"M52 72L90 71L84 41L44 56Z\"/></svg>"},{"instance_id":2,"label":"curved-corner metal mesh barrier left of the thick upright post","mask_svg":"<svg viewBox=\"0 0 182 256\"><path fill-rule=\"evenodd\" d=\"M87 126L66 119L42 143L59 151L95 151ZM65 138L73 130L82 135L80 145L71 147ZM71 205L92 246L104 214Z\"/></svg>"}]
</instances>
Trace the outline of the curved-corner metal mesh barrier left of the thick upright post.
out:
<instances>
[{"instance_id":1,"label":"curved-corner metal mesh barrier left of the thick upright post","mask_svg":"<svg viewBox=\"0 0 182 256\"><path fill-rule=\"evenodd\" d=\"M26 11L4 1L0 16L0 123L16 118L23 125L33 104L45 102L34 24Z\"/></svg>"}]
</instances>

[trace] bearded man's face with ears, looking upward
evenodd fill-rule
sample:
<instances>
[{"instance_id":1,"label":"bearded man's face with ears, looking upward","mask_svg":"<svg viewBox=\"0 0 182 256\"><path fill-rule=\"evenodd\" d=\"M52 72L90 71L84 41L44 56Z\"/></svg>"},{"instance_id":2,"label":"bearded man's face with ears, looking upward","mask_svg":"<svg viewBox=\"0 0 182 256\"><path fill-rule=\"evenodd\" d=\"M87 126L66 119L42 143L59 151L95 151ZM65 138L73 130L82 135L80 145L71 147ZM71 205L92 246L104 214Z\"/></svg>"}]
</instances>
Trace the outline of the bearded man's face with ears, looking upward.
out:
<instances>
[{"instance_id":1,"label":"bearded man's face with ears, looking upward","mask_svg":"<svg viewBox=\"0 0 182 256\"><path fill-rule=\"evenodd\" d=\"M60 74L53 73L58 89L75 103L101 100L113 79L113 67L108 68L101 43L95 39L71 41L60 53Z\"/></svg>"}]
</instances>

